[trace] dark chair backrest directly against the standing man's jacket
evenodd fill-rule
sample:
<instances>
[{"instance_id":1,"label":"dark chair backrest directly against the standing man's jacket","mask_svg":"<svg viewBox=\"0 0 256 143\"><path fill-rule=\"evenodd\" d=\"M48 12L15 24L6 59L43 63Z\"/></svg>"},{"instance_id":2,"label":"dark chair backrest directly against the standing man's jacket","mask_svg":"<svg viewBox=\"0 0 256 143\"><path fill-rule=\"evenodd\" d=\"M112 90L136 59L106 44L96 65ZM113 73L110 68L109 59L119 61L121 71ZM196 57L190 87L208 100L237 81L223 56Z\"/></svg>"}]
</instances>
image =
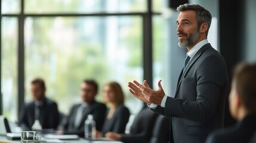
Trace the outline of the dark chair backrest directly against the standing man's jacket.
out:
<instances>
[{"instance_id":1,"label":"dark chair backrest directly against the standing man's jacket","mask_svg":"<svg viewBox=\"0 0 256 143\"><path fill-rule=\"evenodd\" d=\"M169 142L169 118L159 115L156 119L150 143Z\"/></svg>"}]
</instances>

